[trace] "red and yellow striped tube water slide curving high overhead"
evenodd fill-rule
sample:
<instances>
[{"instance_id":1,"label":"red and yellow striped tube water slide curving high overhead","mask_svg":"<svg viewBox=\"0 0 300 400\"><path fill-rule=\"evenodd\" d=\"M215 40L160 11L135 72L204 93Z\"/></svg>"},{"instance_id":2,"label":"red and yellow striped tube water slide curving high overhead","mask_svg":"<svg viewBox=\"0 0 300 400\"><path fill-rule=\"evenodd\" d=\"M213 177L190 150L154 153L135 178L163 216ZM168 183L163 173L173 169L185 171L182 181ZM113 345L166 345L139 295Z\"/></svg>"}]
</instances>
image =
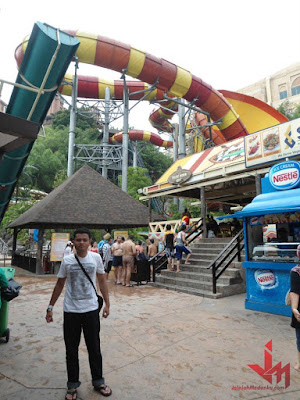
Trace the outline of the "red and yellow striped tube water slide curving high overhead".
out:
<instances>
[{"instance_id":1,"label":"red and yellow striped tube water slide curving high overhead","mask_svg":"<svg viewBox=\"0 0 300 400\"><path fill-rule=\"evenodd\" d=\"M267 104L229 91L217 91L202 79L191 74L188 70L181 68L167 60L152 56L127 44L93 34L80 31L67 31L76 36L80 41L77 50L79 62L97 65L111 69L138 79L139 81L126 82L129 94L156 85L156 89L149 92L137 93L130 96L131 100L163 100L164 93L170 97L179 97L194 102L194 105L209 113L212 121L218 122L218 128L214 128L213 140L216 144L223 143L260 129L277 125L287 119L281 113ZM20 65L27 40L16 49L15 57ZM66 76L68 81L72 76ZM107 81L95 77L79 77L78 96L83 98L103 99L105 88L110 87L111 96L123 99L123 81ZM71 87L65 85L61 88L62 94L70 95ZM176 110L177 105L169 101L164 104L171 110ZM173 112L165 109L156 110L150 116L150 121L160 130L170 131L169 119ZM198 121L197 121L198 118ZM204 124L203 116L196 117L196 123ZM206 132L206 133L205 133ZM204 131L207 135L207 131Z\"/></svg>"}]
</instances>

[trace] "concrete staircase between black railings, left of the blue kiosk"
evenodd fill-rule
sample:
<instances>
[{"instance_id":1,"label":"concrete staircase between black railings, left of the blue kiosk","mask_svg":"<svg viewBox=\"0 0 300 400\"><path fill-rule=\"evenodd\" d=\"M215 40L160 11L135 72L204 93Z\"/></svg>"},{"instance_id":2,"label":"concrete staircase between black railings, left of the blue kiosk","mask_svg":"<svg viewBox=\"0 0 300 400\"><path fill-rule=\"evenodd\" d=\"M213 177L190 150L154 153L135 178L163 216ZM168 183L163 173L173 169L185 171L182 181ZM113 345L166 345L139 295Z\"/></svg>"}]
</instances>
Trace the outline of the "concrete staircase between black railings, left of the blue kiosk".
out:
<instances>
[{"instance_id":1,"label":"concrete staircase between black railings, left of the blue kiosk","mask_svg":"<svg viewBox=\"0 0 300 400\"><path fill-rule=\"evenodd\" d=\"M210 298L244 293L246 291L246 282L241 262L232 262L221 275L217 281L216 294L213 293L212 271L207 269L231 239L201 239L198 243L191 244L193 252L189 260L191 264L184 265L184 255L180 265L182 272L177 274L169 270L162 270L160 274L156 275L155 286Z\"/></svg>"}]
</instances>

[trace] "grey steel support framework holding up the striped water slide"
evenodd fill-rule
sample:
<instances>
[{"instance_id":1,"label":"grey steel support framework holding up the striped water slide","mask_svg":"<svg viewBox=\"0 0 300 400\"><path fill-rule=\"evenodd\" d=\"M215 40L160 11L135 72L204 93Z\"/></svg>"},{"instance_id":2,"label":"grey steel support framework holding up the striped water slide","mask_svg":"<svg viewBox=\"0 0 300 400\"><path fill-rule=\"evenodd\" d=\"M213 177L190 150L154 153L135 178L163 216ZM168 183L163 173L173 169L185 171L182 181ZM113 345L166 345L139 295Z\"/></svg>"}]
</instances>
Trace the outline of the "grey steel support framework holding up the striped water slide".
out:
<instances>
[{"instance_id":1,"label":"grey steel support framework holding up the striped water slide","mask_svg":"<svg viewBox=\"0 0 300 400\"><path fill-rule=\"evenodd\" d=\"M117 179L117 175L122 173L122 190L127 191L127 170L129 163L137 166L138 156L136 154L136 146L129 147L128 135L128 120L130 111L143 101L149 93L156 89L156 83L151 87L134 93L128 93L126 86L126 70L122 71L121 79L124 81L123 100L115 100L111 97L109 88L106 88L104 100L82 100L77 98L77 63L75 65L75 76L72 82L72 103L69 104L71 109L70 115L70 131L69 131L69 154L68 154L68 176L73 173L73 163L89 163L96 166L96 170L107 177ZM70 83L68 83L70 84ZM130 97L136 94L143 94L140 100L135 100L135 103L129 107ZM187 103L182 99L168 97L164 95L164 100L154 100L151 104L158 105L162 109L177 114L164 106L166 102L175 102L178 104L179 123L173 124L173 161L177 158L183 158L186 155L187 147L191 149L189 142L192 142L195 136L203 140L204 148L211 147L214 143L211 140L211 127L214 125L210 121L209 115L200 108L194 106L194 102ZM64 99L64 101L66 101ZM196 125L187 128L187 121L192 118L192 112L200 112L205 114L208 123L204 126ZM102 139L97 145L75 145L75 127L76 114L81 114L86 118L93 118L97 121L99 132L102 134ZM109 143L109 125L119 118L123 118L123 141L122 145L112 145ZM210 138L205 139L202 135L204 129L209 128ZM187 139L186 132L191 131L190 137ZM159 131L159 133L164 133ZM129 154L132 154L129 157Z\"/></svg>"}]
</instances>

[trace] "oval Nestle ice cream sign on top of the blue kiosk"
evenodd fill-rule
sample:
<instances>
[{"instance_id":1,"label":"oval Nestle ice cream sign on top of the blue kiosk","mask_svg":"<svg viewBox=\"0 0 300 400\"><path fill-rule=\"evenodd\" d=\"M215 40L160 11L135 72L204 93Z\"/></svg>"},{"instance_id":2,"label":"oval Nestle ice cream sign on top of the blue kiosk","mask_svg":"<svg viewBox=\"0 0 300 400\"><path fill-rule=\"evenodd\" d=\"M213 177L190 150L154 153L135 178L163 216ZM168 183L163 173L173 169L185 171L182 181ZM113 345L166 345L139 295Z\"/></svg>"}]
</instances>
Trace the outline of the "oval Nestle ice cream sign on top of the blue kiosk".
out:
<instances>
[{"instance_id":1,"label":"oval Nestle ice cream sign on top of the blue kiosk","mask_svg":"<svg viewBox=\"0 0 300 400\"><path fill-rule=\"evenodd\" d=\"M269 172L271 185L277 190L294 189L300 183L300 163L285 161L274 165Z\"/></svg>"}]
</instances>

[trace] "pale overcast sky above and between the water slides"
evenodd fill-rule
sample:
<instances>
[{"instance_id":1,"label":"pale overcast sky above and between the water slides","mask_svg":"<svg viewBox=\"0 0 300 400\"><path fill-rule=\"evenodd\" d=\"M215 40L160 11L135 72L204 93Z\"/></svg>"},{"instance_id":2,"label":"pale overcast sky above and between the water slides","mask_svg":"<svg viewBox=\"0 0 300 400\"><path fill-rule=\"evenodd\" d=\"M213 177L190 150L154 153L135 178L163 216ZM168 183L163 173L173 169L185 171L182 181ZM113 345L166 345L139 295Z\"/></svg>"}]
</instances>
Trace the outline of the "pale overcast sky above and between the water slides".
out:
<instances>
[{"instance_id":1,"label":"pale overcast sky above and between the water slides","mask_svg":"<svg viewBox=\"0 0 300 400\"><path fill-rule=\"evenodd\" d=\"M235 91L299 62L299 15L299 0L5 1L0 5L0 79L15 81L15 48L41 21L122 41L189 70L215 89ZM120 78L86 65L80 65L79 74ZM5 85L6 102L10 91ZM153 108L135 107L130 125L150 130Z\"/></svg>"}]
</instances>

